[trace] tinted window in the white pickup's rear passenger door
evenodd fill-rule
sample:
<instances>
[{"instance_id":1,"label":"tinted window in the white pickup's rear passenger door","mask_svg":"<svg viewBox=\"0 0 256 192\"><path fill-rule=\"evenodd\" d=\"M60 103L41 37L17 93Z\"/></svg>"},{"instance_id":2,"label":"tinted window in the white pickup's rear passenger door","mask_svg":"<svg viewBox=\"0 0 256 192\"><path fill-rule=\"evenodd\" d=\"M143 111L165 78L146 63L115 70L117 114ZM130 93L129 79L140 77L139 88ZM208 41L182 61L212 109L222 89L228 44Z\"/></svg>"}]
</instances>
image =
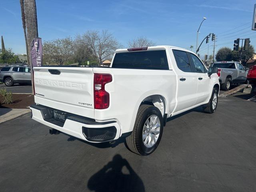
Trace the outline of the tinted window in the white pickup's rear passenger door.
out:
<instances>
[{"instance_id":1,"label":"tinted window in the white pickup's rear passenger door","mask_svg":"<svg viewBox=\"0 0 256 192\"><path fill-rule=\"evenodd\" d=\"M184 72L192 72L188 55L185 51L173 50L178 68Z\"/></svg>"}]
</instances>

